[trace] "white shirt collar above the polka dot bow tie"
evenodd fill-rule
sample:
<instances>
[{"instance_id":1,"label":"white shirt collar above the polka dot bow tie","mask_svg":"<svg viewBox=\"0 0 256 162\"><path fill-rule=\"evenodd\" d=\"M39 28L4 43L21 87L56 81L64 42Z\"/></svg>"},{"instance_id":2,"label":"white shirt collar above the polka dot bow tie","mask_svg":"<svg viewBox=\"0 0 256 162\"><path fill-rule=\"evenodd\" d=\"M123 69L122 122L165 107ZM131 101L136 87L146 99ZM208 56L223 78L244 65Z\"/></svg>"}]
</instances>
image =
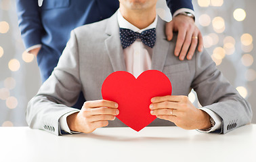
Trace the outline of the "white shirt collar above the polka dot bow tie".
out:
<instances>
[{"instance_id":1,"label":"white shirt collar above the polka dot bow tie","mask_svg":"<svg viewBox=\"0 0 256 162\"><path fill-rule=\"evenodd\" d=\"M156 28L157 19L158 19L158 16L156 15L156 18L154 19L154 22L152 22L152 24L150 24L146 28L139 29L136 26L134 26L133 24L129 23L127 20L125 20L125 18L123 18L122 14L119 10L117 11L117 21L119 23L119 27L120 28L127 28L129 30L133 30L133 32L140 32L141 33L145 30L148 30L148 29L151 29L151 28Z\"/></svg>"}]
</instances>

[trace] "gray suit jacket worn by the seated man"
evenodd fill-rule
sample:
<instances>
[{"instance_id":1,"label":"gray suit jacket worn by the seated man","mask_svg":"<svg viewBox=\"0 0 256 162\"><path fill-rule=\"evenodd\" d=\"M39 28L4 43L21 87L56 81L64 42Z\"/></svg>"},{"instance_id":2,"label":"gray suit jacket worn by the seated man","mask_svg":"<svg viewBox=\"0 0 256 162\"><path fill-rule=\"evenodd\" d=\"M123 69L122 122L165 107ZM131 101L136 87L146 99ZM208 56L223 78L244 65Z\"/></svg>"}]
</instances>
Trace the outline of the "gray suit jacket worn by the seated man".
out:
<instances>
[{"instance_id":1,"label":"gray suit jacket worn by the seated man","mask_svg":"<svg viewBox=\"0 0 256 162\"><path fill-rule=\"evenodd\" d=\"M101 86L115 71L125 71L123 49L116 14L107 20L81 26L71 32L70 40L54 72L28 103L26 120L30 128L60 134L59 119L71 108L79 92L87 101L102 99ZM222 76L206 51L194 53L192 60L179 61L173 55L175 38L165 36L165 22L158 18L152 69L171 80L173 95L188 95L194 88L200 104L222 119L221 133L248 124L252 110L236 89ZM155 119L149 126L173 126L170 121ZM119 119L109 127L125 126Z\"/></svg>"}]
</instances>

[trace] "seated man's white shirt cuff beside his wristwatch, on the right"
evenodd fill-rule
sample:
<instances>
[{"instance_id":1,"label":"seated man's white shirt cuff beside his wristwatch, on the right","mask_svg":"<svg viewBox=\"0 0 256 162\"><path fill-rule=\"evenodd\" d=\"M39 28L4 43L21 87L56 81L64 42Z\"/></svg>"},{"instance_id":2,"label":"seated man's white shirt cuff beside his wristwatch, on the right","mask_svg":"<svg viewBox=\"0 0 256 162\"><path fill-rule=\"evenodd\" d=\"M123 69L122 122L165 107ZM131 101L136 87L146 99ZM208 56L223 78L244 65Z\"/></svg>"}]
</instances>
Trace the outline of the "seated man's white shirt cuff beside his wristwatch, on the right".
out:
<instances>
[{"instance_id":1,"label":"seated man's white shirt cuff beside his wristwatch, on the right","mask_svg":"<svg viewBox=\"0 0 256 162\"><path fill-rule=\"evenodd\" d=\"M206 113L208 113L210 115L210 117L213 118L213 120L215 121L215 125L213 126L213 128L211 128L211 130L198 130L199 132L204 132L204 133L209 133L209 132L213 132L215 130L219 130L221 129L221 117L219 117L219 115L217 115L217 113L211 111L210 109L207 109L207 108L199 108L201 109L202 111L205 111Z\"/></svg>"}]
</instances>

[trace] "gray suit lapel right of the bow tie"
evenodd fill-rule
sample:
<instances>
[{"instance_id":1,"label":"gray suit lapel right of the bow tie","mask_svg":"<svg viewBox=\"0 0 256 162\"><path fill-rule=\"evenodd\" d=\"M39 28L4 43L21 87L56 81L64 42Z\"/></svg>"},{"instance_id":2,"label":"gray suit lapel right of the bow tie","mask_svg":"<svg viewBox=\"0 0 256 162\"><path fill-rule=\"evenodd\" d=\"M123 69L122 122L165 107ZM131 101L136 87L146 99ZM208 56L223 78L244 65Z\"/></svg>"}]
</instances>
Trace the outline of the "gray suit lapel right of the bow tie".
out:
<instances>
[{"instance_id":1,"label":"gray suit lapel right of the bow tie","mask_svg":"<svg viewBox=\"0 0 256 162\"><path fill-rule=\"evenodd\" d=\"M156 44L154 45L152 54L152 70L159 70L163 72L169 47L170 42L167 41L165 36L165 22L158 17L158 23L156 26Z\"/></svg>"}]
</instances>

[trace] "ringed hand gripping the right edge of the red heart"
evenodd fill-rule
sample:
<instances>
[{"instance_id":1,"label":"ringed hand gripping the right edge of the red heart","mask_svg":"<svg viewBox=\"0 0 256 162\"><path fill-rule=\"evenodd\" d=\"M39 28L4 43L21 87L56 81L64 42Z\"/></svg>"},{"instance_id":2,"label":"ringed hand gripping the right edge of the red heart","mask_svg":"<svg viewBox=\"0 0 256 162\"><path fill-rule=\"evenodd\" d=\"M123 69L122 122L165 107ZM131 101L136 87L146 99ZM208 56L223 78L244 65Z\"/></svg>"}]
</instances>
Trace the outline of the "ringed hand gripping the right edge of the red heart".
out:
<instances>
[{"instance_id":1,"label":"ringed hand gripping the right edge of the red heart","mask_svg":"<svg viewBox=\"0 0 256 162\"><path fill-rule=\"evenodd\" d=\"M210 116L197 109L186 96L153 97L150 113L186 130L211 128Z\"/></svg>"}]
</instances>

